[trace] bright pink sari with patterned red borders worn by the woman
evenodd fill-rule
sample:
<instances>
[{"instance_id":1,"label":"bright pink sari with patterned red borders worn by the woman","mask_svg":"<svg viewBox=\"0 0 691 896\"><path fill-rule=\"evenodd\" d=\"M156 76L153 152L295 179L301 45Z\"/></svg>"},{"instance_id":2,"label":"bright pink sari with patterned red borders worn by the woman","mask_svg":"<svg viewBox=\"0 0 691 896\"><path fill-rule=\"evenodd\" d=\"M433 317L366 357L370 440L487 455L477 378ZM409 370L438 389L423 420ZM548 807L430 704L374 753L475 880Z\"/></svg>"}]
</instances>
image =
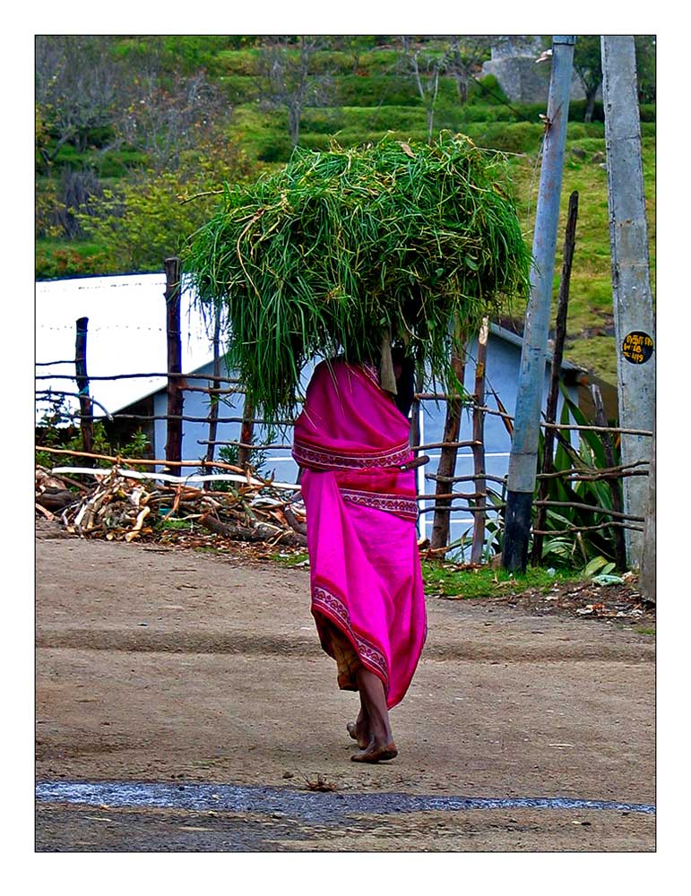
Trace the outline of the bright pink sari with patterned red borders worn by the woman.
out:
<instances>
[{"instance_id":1,"label":"bright pink sari with patterned red borders worn by the woman","mask_svg":"<svg viewBox=\"0 0 691 896\"><path fill-rule=\"evenodd\" d=\"M408 690L427 634L415 473L400 469L413 456L409 427L373 368L323 361L293 445L320 642L340 672L338 643L354 650L384 682L389 708ZM357 689L352 675L339 684Z\"/></svg>"}]
</instances>

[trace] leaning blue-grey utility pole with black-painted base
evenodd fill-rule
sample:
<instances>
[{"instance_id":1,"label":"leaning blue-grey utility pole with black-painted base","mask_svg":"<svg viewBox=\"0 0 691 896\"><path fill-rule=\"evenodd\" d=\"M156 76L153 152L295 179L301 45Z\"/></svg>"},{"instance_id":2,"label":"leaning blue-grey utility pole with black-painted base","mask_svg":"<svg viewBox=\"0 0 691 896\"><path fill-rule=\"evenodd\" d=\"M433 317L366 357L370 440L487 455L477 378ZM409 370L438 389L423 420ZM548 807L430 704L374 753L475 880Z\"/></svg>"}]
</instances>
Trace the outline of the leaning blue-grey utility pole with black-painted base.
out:
<instances>
[{"instance_id":1,"label":"leaning blue-grey utility pole with black-painted base","mask_svg":"<svg viewBox=\"0 0 691 896\"><path fill-rule=\"evenodd\" d=\"M509 459L506 527L502 565L525 572L531 532L532 495L538 467L540 409L545 381L552 276L557 250L559 198L564 168L566 121L574 60L573 35L552 39L552 72L540 187L532 240L531 297L525 314L521 372L516 397L514 438Z\"/></svg>"}]
</instances>

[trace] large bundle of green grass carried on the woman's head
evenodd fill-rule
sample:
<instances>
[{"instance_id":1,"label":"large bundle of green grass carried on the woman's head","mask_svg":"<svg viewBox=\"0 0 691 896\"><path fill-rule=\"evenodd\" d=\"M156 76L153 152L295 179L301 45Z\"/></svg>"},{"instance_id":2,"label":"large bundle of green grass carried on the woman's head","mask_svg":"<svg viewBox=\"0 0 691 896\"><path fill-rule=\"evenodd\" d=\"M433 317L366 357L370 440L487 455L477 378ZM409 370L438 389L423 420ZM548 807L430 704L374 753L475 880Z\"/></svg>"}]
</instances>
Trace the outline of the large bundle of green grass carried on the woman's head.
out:
<instances>
[{"instance_id":1,"label":"large bundle of green grass carried on the woman's head","mask_svg":"<svg viewBox=\"0 0 691 896\"><path fill-rule=\"evenodd\" d=\"M529 289L505 191L503 159L449 133L297 148L250 188L227 186L184 270L203 308L222 314L229 366L255 408L294 413L307 359L377 363L386 335L453 383L453 340Z\"/></svg>"}]
</instances>

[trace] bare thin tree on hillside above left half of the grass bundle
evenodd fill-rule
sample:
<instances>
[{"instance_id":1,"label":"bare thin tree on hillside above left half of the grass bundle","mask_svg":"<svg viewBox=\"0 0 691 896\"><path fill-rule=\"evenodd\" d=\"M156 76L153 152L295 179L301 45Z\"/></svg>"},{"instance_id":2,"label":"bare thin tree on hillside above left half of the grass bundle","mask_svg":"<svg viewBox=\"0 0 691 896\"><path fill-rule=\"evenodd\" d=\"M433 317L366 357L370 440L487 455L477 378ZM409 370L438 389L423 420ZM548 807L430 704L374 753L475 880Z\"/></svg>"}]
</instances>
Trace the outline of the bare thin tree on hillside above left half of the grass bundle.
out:
<instances>
[{"instance_id":1,"label":"bare thin tree on hillside above left half of the grass bundle","mask_svg":"<svg viewBox=\"0 0 691 896\"><path fill-rule=\"evenodd\" d=\"M324 103L331 79L327 74L316 76L310 71L320 38L300 35L294 40L296 43L291 45L289 37L267 39L260 54L260 68L266 84L265 101L287 109L290 139L297 146L307 99Z\"/></svg>"}]
</instances>

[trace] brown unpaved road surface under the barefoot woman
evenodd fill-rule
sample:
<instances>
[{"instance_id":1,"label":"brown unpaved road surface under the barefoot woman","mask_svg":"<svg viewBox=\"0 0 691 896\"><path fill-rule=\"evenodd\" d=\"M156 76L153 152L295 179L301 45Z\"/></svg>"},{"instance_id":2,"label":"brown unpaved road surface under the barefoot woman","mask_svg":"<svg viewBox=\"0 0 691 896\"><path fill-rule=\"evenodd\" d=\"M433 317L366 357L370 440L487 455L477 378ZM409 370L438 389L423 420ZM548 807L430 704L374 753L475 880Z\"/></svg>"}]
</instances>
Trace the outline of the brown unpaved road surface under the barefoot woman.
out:
<instances>
[{"instance_id":1,"label":"brown unpaved road surface under the barefoot woman","mask_svg":"<svg viewBox=\"0 0 691 896\"><path fill-rule=\"evenodd\" d=\"M345 731L358 696L318 646L307 570L239 545L60 534L37 539L39 789L163 783L180 799L44 796L38 851L655 849L650 811L405 803L654 806L654 641L635 626L428 599L428 642L392 712L399 756L363 766ZM201 783L238 799L206 788L195 803Z\"/></svg>"}]
</instances>

